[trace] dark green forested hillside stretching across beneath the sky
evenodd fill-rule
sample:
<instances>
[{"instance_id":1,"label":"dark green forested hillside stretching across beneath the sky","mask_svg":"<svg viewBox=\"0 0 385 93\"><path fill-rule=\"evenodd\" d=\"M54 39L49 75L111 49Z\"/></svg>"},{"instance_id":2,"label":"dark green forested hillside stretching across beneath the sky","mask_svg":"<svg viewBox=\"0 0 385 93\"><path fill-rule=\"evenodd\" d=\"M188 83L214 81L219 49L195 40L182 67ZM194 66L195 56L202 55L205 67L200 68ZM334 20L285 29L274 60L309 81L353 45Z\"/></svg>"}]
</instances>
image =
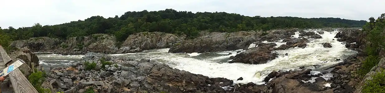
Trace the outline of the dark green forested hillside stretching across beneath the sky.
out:
<instances>
[{"instance_id":1,"label":"dark green forested hillside stretching across beneath the sky","mask_svg":"<svg viewBox=\"0 0 385 93\"><path fill-rule=\"evenodd\" d=\"M345 20L340 18L298 18L243 16L225 12L176 11L128 11L122 16L103 18L92 16L84 21L32 27L2 29L13 40L48 36L65 39L90 34L114 34L118 41L124 41L129 34L144 31L159 31L172 34L186 34L193 38L199 31L235 32L250 30L269 30L276 28L322 28L322 27L362 27L367 21ZM3 27L5 28L5 27Z\"/></svg>"}]
</instances>

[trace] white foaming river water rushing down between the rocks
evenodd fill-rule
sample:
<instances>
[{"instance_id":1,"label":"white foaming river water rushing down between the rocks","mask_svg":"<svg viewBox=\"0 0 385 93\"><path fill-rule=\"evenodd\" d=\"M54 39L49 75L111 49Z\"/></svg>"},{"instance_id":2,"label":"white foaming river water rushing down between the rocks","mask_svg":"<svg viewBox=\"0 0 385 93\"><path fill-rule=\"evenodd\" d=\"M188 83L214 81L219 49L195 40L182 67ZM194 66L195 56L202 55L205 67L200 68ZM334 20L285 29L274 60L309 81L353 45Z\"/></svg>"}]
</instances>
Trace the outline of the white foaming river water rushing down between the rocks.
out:
<instances>
[{"instance_id":1,"label":"white foaming river water rushing down between the rocks","mask_svg":"<svg viewBox=\"0 0 385 93\"><path fill-rule=\"evenodd\" d=\"M308 30L314 31L317 30ZM137 53L128 54L110 54L112 56L124 56L132 59L151 59L157 62L165 63L170 67L186 70L191 73L202 74L208 77L223 77L230 80L234 80L234 83L263 83L262 80L271 71L278 70L291 70L298 67L305 66L306 68L315 69L312 73L319 73L319 69L313 67L313 65L320 65L322 67L328 67L342 61L336 61L336 59L345 59L349 55L357 53L356 51L349 50L342 42L336 41L334 36L338 31L326 32L320 34L321 39L308 39L310 42L308 46L302 49L299 47L290 48L287 50L273 51L278 52L279 57L269 61L266 64L242 64L233 63L229 64L229 57L235 56L238 51L223 51L223 52L206 52L206 53L167 53L169 48L166 49L152 49ZM296 32L293 38L298 38L299 33ZM333 40L335 39L335 40ZM286 42L267 42L276 43L278 46L285 44ZM324 48L321 43L331 43L333 47ZM276 47L278 47L276 46ZM251 44L249 48L256 47L255 44ZM230 55L228 55L231 53ZM288 54L287 56L285 54ZM40 64L47 67L63 67L68 66L74 62L78 62L83 55L55 55L55 54L39 54L38 57L41 60ZM326 62L327 61L327 62ZM325 63L326 62L326 63ZM237 80L239 77L243 77L243 80ZM323 77L328 77L323 76Z\"/></svg>"}]
</instances>

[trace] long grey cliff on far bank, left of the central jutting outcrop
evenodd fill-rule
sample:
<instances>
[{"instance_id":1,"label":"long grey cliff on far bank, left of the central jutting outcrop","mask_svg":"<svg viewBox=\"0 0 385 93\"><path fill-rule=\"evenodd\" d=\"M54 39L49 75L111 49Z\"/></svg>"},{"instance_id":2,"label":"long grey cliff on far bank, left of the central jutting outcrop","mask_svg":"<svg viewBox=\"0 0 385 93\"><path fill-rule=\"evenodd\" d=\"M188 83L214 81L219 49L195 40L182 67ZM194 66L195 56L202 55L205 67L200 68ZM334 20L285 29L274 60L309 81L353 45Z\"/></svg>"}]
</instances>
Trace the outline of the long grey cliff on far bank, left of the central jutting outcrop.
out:
<instances>
[{"instance_id":1,"label":"long grey cliff on far bank, left of the central jutting outcrop","mask_svg":"<svg viewBox=\"0 0 385 93\"><path fill-rule=\"evenodd\" d=\"M122 42L119 49L115 36L108 34L92 34L84 37L71 37L67 40L39 37L28 40L13 41L11 47L27 47L33 52L57 52L59 54L85 54L87 52L132 53L149 49L169 48L184 40L184 36L176 36L161 32L142 32L131 34Z\"/></svg>"}]
</instances>

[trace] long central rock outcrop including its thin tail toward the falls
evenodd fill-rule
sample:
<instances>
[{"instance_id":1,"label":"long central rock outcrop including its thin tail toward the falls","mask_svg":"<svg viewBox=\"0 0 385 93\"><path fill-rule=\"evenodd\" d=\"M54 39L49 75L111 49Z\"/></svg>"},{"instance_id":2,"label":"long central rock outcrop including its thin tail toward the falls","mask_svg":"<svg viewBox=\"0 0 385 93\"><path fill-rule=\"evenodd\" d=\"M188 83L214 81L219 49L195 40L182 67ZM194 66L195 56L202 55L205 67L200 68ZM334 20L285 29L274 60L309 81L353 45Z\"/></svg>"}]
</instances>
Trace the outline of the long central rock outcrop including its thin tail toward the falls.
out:
<instances>
[{"instance_id":1,"label":"long central rock outcrop including its thin tail toward the falls","mask_svg":"<svg viewBox=\"0 0 385 93\"><path fill-rule=\"evenodd\" d=\"M254 31L239 31L235 33L204 33L196 39L186 40L177 43L169 50L171 53L192 53L192 52L218 52L237 49L247 49L253 42L278 41L294 35L297 29L278 29L267 31L266 35L259 36Z\"/></svg>"}]
</instances>

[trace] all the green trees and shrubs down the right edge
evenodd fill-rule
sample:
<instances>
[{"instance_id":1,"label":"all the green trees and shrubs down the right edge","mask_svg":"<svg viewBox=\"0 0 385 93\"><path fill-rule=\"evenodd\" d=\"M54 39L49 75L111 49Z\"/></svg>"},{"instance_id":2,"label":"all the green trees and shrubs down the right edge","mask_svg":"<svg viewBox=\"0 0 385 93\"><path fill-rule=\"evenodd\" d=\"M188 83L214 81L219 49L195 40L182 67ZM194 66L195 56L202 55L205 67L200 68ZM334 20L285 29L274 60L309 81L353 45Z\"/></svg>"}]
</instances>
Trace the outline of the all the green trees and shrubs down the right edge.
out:
<instances>
[{"instance_id":1,"label":"all the green trees and shrubs down the right edge","mask_svg":"<svg viewBox=\"0 0 385 93\"><path fill-rule=\"evenodd\" d=\"M369 22L363 26L362 33L367 34L366 51L368 57L362 62L359 70L361 77L365 76L370 69L380 61L378 59L380 49L385 47L385 13L375 20L373 17L369 18ZM385 93L385 71L382 70L372 76L371 80L365 82L362 88L363 93Z\"/></svg>"}]
</instances>

